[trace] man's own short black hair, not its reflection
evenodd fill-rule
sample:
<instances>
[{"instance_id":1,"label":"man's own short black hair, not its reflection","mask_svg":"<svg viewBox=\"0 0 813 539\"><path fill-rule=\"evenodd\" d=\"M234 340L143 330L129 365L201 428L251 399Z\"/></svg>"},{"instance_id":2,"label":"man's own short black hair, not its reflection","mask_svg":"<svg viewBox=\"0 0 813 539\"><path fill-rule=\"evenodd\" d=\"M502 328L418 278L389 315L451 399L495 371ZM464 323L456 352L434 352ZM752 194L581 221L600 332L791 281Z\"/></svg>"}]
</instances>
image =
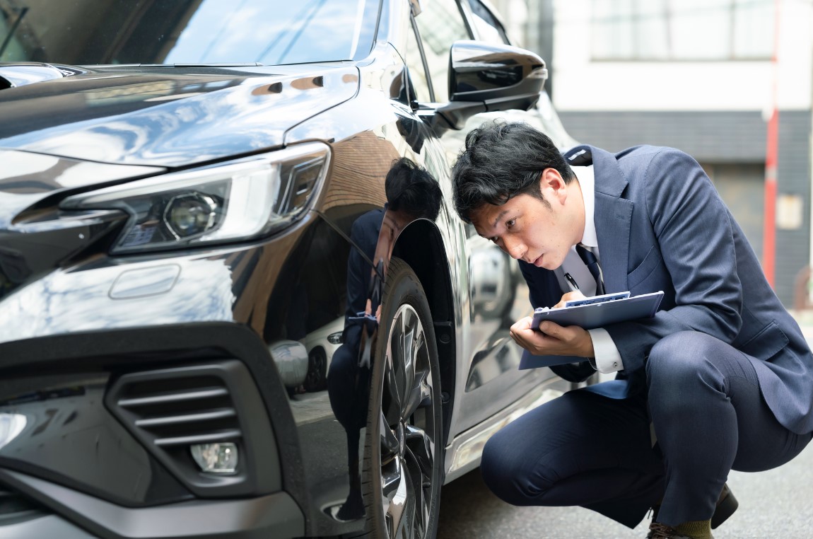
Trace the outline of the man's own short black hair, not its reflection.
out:
<instances>
[{"instance_id":1,"label":"man's own short black hair, not its reflection","mask_svg":"<svg viewBox=\"0 0 813 539\"><path fill-rule=\"evenodd\" d=\"M471 222L484 204L502 206L518 194L542 197L539 181L546 168L559 171L566 184L576 176L545 133L523 123L494 121L473 129L452 168L454 209Z\"/></svg>"}]
</instances>

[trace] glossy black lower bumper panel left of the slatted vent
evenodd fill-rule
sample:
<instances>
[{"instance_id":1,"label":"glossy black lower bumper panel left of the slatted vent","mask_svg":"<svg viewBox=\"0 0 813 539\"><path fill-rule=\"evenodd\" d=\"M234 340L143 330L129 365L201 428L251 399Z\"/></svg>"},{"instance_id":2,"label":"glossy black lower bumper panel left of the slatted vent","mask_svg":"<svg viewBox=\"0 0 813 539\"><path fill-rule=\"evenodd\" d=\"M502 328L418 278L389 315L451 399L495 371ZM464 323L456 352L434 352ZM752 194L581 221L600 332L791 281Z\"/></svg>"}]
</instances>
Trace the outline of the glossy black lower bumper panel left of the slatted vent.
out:
<instances>
[{"instance_id":1,"label":"glossy black lower bumper panel left of the slatted vent","mask_svg":"<svg viewBox=\"0 0 813 539\"><path fill-rule=\"evenodd\" d=\"M106 375L71 378L16 378L13 388L3 385L0 414L14 415L20 433L0 448L0 466L124 506L193 498L105 409Z\"/></svg>"}]
</instances>

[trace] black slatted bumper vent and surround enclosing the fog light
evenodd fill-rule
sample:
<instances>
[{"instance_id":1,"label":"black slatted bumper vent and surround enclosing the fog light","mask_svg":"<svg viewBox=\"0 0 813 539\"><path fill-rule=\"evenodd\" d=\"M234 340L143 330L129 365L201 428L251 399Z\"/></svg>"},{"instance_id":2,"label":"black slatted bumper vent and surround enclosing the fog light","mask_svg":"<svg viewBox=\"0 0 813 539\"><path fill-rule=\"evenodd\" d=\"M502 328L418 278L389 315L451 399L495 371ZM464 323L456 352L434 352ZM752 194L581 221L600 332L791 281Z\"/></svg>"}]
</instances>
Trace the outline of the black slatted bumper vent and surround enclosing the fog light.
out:
<instances>
[{"instance_id":1,"label":"black slatted bumper vent and surround enclosing the fog light","mask_svg":"<svg viewBox=\"0 0 813 539\"><path fill-rule=\"evenodd\" d=\"M124 374L107 389L105 405L200 497L247 495L278 484L276 447L262 399L236 359ZM191 446L217 442L237 446L235 472L207 474L194 462Z\"/></svg>"}]
</instances>

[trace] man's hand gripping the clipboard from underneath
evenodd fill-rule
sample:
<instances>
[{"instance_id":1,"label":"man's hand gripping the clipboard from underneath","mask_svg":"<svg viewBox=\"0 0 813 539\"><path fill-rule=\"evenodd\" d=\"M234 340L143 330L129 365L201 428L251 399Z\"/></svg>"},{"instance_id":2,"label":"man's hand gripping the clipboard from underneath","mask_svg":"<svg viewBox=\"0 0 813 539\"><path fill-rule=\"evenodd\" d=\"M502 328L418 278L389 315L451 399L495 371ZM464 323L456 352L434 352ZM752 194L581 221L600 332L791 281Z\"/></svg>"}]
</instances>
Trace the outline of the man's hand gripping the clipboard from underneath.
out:
<instances>
[{"instance_id":1,"label":"man's hand gripping the clipboard from underneath","mask_svg":"<svg viewBox=\"0 0 813 539\"><path fill-rule=\"evenodd\" d=\"M566 301L564 298L562 300ZM539 331L536 331L531 329L532 320L528 316L511 326L511 338L531 354L574 355L580 358L592 358L595 355L593 339L586 329L578 326L563 328L546 320L539 324Z\"/></svg>"}]
</instances>

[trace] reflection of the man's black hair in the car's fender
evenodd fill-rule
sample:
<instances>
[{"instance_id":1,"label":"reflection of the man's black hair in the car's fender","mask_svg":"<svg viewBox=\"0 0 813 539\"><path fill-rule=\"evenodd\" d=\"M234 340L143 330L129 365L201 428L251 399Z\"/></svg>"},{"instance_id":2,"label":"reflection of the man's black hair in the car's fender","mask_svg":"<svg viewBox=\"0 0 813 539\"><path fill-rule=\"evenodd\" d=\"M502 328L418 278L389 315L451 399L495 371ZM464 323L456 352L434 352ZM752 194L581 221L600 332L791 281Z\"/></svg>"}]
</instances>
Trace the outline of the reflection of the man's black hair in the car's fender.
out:
<instances>
[{"instance_id":1,"label":"reflection of the man's black hair in the car's fender","mask_svg":"<svg viewBox=\"0 0 813 539\"><path fill-rule=\"evenodd\" d=\"M406 157L393 162L387 172L384 190L392 211L404 211L428 220L436 220L441 211L441 186L431 174Z\"/></svg>"}]
</instances>

